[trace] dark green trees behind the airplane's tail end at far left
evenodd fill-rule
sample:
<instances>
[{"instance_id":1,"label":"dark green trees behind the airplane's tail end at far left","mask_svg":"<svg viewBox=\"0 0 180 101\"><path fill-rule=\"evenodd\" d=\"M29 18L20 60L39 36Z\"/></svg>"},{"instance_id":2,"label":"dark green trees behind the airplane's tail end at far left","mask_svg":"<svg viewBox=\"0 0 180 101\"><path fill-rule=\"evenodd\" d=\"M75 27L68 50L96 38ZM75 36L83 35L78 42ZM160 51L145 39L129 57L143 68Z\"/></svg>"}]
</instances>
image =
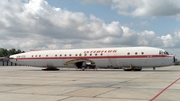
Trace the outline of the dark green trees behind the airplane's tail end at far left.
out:
<instances>
[{"instance_id":1,"label":"dark green trees behind the airplane's tail end at far left","mask_svg":"<svg viewBox=\"0 0 180 101\"><path fill-rule=\"evenodd\" d=\"M10 55L18 54L18 53L24 53L24 51L15 48L12 49L0 48L0 57L8 57Z\"/></svg>"}]
</instances>

